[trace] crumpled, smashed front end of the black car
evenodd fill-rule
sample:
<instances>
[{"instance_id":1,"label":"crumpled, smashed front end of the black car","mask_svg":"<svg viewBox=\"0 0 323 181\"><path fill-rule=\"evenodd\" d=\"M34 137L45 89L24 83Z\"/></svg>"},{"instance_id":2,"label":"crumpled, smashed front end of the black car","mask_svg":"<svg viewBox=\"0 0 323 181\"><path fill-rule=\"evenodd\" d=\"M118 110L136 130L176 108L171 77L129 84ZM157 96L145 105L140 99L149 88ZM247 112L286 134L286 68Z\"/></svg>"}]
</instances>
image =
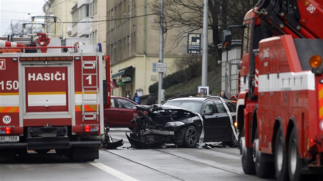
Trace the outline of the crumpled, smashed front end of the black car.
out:
<instances>
[{"instance_id":1,"label":"crumpled, smashed front end of the black car","mask_svg":"<svg viewBox=\"0 0 323 181\"><path fill-rule=\"evenodd\" d=\"M167 122L181 121L187 124L198 116L187 109L170 105L136 105L136 108L140 117L133 121L138 126L130 132L130 136L127 135L127 138L132 147L139 149L160 147L170 141L175 131L180 131L184 127L184 125L166 127Z\"/></svg>"}]
</instances>

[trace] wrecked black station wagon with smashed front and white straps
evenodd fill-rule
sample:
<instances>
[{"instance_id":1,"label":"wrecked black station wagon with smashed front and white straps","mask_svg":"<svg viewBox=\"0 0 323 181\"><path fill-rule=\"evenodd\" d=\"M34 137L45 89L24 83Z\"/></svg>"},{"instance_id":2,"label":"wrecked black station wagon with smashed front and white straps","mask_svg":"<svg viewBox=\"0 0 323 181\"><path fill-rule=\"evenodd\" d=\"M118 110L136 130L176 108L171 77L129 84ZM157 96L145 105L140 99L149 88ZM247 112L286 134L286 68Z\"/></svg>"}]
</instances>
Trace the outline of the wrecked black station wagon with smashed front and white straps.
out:
<instances>
[{"instance_id":1,"label":"wrecked black station wagon with smashed front and white straps","mask_svg":"<svg viewBox=\"0 0 323 181\"><path fill-rule=\"evenodd\" d=\"M128 140L135 148L158 147L172 143L194 148L197 143L237 143L236 105L214 97L172 98L161 105L136 105L140 117Z\"/></svg>"}]
</instances>

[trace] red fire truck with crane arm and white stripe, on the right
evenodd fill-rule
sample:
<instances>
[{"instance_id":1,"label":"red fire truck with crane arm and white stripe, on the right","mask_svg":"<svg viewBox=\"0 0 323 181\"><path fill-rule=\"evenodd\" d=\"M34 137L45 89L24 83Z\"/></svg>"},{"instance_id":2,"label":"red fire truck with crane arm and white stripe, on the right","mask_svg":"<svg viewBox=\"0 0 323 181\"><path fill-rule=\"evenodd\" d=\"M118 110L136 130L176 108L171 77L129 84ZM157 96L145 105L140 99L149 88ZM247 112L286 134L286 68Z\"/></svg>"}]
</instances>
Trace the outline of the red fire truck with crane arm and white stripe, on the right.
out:
<instances>
[{"instance_id":1,"label":"red fire truck with crane arm and white stripe, on the right","mask_svg":"<svg viewBox=\"0 0 323 181\"><path fill-rule=\"evenodd\" d=\"M323 173L322 22L321 0L261 0L239 26L236 121L246 174L300 180ZM228 49L230 30L223 40Z\"/></svg>"}]
</instances>

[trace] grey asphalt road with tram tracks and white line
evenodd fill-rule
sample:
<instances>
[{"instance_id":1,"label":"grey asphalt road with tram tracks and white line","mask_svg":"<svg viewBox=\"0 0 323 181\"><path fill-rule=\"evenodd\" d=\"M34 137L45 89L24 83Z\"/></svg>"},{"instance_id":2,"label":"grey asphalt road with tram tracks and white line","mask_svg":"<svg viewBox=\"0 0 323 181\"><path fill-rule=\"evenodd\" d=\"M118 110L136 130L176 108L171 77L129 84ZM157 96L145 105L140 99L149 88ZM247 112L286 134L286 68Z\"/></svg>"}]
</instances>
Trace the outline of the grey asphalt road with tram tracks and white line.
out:
<instances>
[{"instance_id":1,"label":"grey asphalt road with tram tracks and white line","mask_svg":"<svg viewBox=\"0 0 323 181\"><path fill-rule=\"evenodd\" d=\"M111 129L124 145L100 150L93 162L70 162L54 154L30 153L24 161L2 163L0 180L265 180L245 175L239 150L217 144L211 149L134 149L127 142L128 129Z\"/></svg>"}]
</instances>

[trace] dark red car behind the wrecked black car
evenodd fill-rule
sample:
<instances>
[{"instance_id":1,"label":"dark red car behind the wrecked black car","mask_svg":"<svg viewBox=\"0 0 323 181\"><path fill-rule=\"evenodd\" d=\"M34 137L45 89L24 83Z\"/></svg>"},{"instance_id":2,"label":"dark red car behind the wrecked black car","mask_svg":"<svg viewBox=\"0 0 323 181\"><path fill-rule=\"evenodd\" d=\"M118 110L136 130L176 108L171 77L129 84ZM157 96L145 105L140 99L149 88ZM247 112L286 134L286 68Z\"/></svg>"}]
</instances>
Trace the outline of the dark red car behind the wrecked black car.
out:
<instances>
[{"instance_id":1,"label":"dark red car behind the wrecked black car","mask_svg":"<svg viewBox=\"0 0 323 181\"><path fill-rule=\"evenodd\" d=\"M111 108L104 108L104 125L109 127L126 127L132 129L135 123L130 123L139 113L136 102L118 96L111 96Z\"/></svg>"}]
</instances>

